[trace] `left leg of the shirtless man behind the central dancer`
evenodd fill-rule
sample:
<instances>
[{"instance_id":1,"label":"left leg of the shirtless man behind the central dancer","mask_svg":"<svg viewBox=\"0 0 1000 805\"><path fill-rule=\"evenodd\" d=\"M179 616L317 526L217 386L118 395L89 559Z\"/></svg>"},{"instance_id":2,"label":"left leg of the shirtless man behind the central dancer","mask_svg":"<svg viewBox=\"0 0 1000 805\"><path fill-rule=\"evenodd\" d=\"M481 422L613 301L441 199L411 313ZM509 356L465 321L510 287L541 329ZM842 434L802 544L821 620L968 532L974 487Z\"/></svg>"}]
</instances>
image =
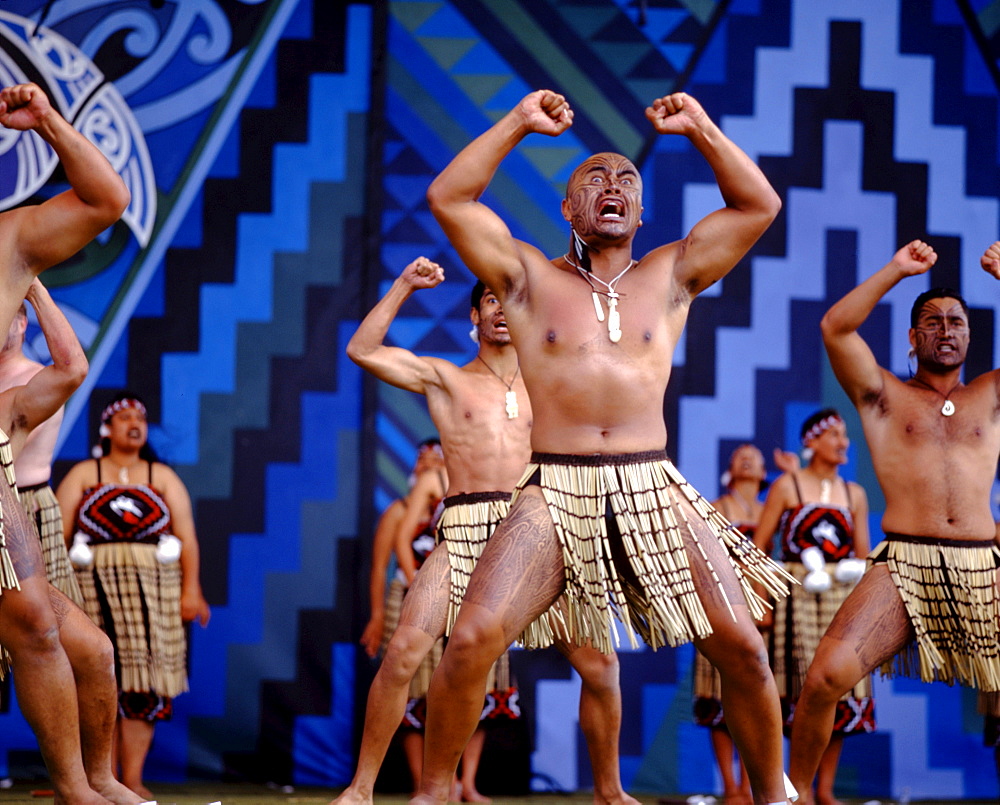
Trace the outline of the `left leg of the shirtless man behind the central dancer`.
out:
<instances>
[{"instance_id":1,"label":"left leg of the shirtless man behind the central dancer","mask_svg":"<svg viewBox=\"0 0 1000 805\"><path fill-rule=\"evenodd\" d=\"M442 542L424 561L403 598L399 626L368 691L358 768L350 786L334 800L335 803L372 802L378 771L406 712L410 680L434 643L444 634L450 579L447 543ZM480 711L482 706L480 700Z\"/></svg>"}]
</instances>

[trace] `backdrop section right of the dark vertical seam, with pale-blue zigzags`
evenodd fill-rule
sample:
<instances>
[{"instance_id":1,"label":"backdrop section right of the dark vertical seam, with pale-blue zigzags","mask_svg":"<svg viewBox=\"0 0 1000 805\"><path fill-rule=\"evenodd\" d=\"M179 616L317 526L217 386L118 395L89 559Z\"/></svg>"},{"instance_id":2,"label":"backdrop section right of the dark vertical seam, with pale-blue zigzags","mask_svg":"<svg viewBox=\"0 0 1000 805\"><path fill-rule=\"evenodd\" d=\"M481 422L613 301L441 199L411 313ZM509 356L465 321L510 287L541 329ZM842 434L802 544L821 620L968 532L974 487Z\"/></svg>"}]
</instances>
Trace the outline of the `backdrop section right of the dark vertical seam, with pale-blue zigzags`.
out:
<instances>
[{"instance_id":1,"label":"backdrop section right of the dark vertical seam, with pale-blue zigzags","mask_svg":"<svg viewBox=\"0 0 1000 805\"><path fill-rule=\"evenodd\" d=\"M626 0L390 4L383 282L418 253L442 262L449 281L464 280L461 293L442 286L417 295L390 335L418 351L460 362L471 357L464 340L471 279L434 226L423 191L459 148L532 89L563 91L576 117L559 138L526 141L497 172L486 201L516 236L550 254L565 249L558 202L568 171L594 151L625 153L643 172L640 253L680 237L718 206L703 161L683 142L651 137L642 115L653 97L687 89L763 167L784 212L752 256L692 308L665 401L668 451L697 487L714 494L719 467L736 444L794 449L792 434L804 416L836 404L857 436L847 472L865 484L877 510L860 430L822 355L818 323L900 243L925 237L941 259L923 283L953 285L977 300L970 374L994 365L998 334L989 300L997 295L978 269L978 254L998 230L991 78L998 54L992 66L983 58L990 52L984 41L992 43L1000 30L995 4L979 4L971 23L961 3L645 5L640 20L639 4ZM880 362L901 374L909 303L923 287L915 281L897 288L866 325ZM424 435L401 423L427 422L413 395L383 398L380 421L379 448L393 456ZM389 490L383 495L388 500ZM878 533L877 511L873 520ZM626 722L642 723L645 737L642 746L623 750L623 771L640 788L704 789L711 763L707 737L689 724L686 671L664 670L659 686L650 680L644 688L650 697L659 691L660 705L626 710ZM906 684L884 686L877 705L886 712L883 732L859 739L867 741L867 757L852 757L850 748L845 754L842 778L854 781L852 795L888 793L885 766L873 772L872 756L887 763L890 754L909 757L903 746L910 738L889 726ZM546 686L546 695L558 699L557 688ZM545 712L574 712L572 681L565 691ZM946 709L939 716L935 704L943 694L923 687L914 695L928 703L934 752L934 736L948 732ZM977 738L964 735L965 745ZM566 750L548 753L559 760L545 774L566 787L585 784L582 746ZM957 775L971 796L985 784L977 777L983 757L945 754L954 770L923 769L914 779L912 768L897 764L888 785L907 779L911 791L924 784L937 792L939 784L954 786ZM538 747L536 767L544 756ZM683 763L674 762L679 757Z\"/></svg>"}]
</instances>

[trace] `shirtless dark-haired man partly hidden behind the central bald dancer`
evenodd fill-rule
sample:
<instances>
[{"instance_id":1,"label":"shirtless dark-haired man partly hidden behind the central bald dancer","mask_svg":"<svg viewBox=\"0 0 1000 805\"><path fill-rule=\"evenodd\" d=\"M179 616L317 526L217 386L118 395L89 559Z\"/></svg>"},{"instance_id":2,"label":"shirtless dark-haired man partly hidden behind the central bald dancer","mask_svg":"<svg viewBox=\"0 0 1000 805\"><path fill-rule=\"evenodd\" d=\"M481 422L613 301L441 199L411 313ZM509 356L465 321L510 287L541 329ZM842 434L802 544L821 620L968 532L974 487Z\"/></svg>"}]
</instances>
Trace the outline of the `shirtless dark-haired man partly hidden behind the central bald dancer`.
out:
<instances>
[{"instance_id":1,"label":"shirtless dark-haired man partly hidden behind the central bald dancer","mask_svg":"<svg viewBox=\"0 0 1000 805\"><path fill-rule=\"evenodd\" d=\"M384 344L389 325L410 294L443 280L444 271L437 263L424 257L414 260L347 345L351 359L380 380L426 395L444 449L448 495L438 522L438 546L424 561L404 599L399 627L368 693L357 772L336 802L372 801L375 776L403 716L410 679L434 642L450 630L472 568L507 513L511 490L531 454L531 403L503 309L491 291L482 285L473 291L470 317L479 351L464 366ZM623 791L618 768L618 658L544 631L532 635L532 647L554 642L583 680L580 726L594 772L594 802L635 802ZM476 715L458 755L478 724L489 668L512 642L513 638L507 641L484 671ZM449 770L448 792L457 765L458 757Z\"/></svg>"}]
</instances>

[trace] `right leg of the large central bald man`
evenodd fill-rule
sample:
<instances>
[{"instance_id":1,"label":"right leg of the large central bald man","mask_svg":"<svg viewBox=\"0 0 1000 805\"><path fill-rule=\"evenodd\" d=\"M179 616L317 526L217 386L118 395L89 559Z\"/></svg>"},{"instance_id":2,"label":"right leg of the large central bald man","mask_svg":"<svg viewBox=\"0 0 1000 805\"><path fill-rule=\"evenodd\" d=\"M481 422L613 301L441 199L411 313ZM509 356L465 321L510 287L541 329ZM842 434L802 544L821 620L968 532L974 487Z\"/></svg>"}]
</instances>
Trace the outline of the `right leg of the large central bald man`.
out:
<instances>
[{"instance_id":1,"label":"right leg of the large central bald man","mask_svg":"<svg viewBox=\"0 0 1000 805\"><path fill-rule=\"evenodd\" d=\"M764 641L722 543L710 533L697 543L685 533L685 541L694 586L712 626L712 634L695 640L695 647L719 671L726 724L746 765L754 802L785 802L781 708Z\"/></svg>"}]
</instances>

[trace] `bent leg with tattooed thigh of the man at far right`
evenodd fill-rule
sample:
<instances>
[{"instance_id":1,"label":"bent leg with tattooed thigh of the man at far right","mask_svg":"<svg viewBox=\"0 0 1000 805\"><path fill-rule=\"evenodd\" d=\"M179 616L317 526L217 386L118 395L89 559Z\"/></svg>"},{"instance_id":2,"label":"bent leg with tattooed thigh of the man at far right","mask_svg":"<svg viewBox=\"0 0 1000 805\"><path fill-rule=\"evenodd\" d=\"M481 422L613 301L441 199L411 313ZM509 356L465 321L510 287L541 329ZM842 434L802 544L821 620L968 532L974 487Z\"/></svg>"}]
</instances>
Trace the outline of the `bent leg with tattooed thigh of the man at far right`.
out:
<instances>
[{"instance_id":1,"label":"bent leg with tattooed thigh of the man at far right","mask_svg":"<svg viewBox=\"0 0 1000 805\"><path fill-rule=\"evenodd\" d=\"M788 773L804 800L811 800L813 777L833 732L837 701L913 639L913 626L889 569L875 565L837 610L795 705Z\"/></svg>"}]
</instances>

